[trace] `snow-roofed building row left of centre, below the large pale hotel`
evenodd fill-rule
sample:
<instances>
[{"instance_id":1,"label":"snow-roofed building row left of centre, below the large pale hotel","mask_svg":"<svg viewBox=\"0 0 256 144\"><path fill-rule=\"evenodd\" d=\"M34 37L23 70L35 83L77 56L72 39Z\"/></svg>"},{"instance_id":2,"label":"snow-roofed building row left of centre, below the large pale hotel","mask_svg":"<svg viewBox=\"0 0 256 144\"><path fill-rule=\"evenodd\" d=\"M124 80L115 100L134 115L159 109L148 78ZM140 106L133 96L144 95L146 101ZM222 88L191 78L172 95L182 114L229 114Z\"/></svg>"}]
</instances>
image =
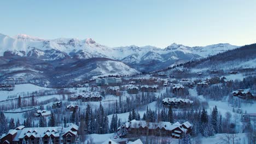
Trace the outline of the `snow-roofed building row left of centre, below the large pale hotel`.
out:
<instances>
[{"instance_id":1,"label":"snow-roofed building row left of centre, below the large pale hotel","mask_svg":"<svg viewBox=\"0 0 256 144\"><path fill-rule=\"evenodd\" d=\"M83 102L86 101L101 101L102 96L98 92L82 92L82 93L75 93L69 97L70 101L75 101L81 99Z\"/></svg>"}]
</instances>

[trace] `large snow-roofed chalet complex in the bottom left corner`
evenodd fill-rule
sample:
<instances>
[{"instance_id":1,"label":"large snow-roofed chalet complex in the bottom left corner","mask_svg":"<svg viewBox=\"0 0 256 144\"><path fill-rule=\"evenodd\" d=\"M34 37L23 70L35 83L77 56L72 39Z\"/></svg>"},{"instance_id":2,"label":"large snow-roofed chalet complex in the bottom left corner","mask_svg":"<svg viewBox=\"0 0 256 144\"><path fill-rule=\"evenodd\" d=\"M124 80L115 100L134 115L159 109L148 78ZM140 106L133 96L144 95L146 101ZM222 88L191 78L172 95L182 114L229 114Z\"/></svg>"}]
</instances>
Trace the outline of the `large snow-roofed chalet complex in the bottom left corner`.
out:
<instances>
[{"instance_id":1,"label":"large snow-roofed chalet complex in the bottom left corner","mask_svg":"<svg viewBox=\"0 0 256 144\"><path fill-rule=\"evenodd\" d=\"M18 127L19 128L19 127ZM63 127L37 127L9 130L7 134L3 134L0 139L0 144L19 144L23 140L26 143L39 144L39 139L42 138L43 143L47 144L50 137L54 144L74 143L75 135L77 135L78 126L75 124L67 128Z\"/></svg>"}]
</instances>

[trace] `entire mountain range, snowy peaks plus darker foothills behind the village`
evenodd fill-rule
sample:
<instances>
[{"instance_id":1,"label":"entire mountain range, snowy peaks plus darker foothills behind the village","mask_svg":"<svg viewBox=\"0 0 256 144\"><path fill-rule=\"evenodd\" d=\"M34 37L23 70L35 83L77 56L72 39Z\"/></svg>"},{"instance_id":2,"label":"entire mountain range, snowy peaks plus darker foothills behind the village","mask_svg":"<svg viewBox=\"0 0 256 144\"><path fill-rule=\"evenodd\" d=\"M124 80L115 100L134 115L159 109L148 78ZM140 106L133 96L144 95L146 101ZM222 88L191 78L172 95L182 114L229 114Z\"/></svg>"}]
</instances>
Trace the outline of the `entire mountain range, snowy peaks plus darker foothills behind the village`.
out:
<instances>
[{"instance_id":1,"label":"entire mountain range, snowy peaks plus darker foothills behind the village","mask_svg":"<svg viewBox=\"0 0 256 144\"><path fill-rule=\"evenodd\" d=\"M97 75L132 75L164 69L237 47L230 44L189 47L175 43L164 49L136 45L108 47L91 38L50 40L26 34L15 37L0 34L0 80L16 75L26 75L33 81L46 77L43 83L48 85L59 77L62 81L66 77L65 82L68 82L71 77L82 80Z\"/></svg>"}]
</instances>

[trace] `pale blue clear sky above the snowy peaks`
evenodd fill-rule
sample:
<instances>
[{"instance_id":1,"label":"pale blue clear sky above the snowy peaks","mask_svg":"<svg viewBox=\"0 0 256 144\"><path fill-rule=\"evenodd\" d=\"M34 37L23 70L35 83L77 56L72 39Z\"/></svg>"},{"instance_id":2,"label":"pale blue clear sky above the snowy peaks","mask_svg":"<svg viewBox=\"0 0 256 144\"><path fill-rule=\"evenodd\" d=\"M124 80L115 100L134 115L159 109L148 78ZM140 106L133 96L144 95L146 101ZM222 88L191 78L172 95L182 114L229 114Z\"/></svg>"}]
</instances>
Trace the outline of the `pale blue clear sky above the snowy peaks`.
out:
<instances>
[{"instance_id":1,"label":"pale blue clear sky above the snowy peaks","mask_svg":"<svg viewBox=\"0 0 256 144\"><path fill-rule=\"evenodd\" d=\"M0 1L0 33L107 46L256 42L256 1Z\"/></svg>"}]
</instances>

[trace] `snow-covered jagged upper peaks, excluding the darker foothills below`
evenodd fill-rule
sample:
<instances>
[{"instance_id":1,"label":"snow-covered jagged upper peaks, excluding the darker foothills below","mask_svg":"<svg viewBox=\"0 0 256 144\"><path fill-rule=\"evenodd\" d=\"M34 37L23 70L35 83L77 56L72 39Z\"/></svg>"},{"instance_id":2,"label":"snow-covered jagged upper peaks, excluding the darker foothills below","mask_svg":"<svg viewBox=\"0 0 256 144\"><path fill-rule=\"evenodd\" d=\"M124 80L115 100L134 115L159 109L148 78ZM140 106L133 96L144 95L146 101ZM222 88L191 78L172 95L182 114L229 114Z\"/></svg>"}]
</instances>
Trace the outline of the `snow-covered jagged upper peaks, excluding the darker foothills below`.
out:
<instances>
[{"instance_id":1,"label":"snow-covered jagged upper peaks, excluding the darker foothills below","mask_svg":"<svg viewBox=\"0 0 256 144\"><path fill-rule=\"evenodd\" d=\"M67 57L72 59L106 57L122 61L139 71L158 70L177 62L216 55L236 47L238 46L230 44L189 47L175 43L165 49L135 45L108 47L96 43L91 38L47 40L26 34L19 34L13 38L0 34L0 56L37 57L44 61L55 61Z\"/></svg>"}]
</instances>

